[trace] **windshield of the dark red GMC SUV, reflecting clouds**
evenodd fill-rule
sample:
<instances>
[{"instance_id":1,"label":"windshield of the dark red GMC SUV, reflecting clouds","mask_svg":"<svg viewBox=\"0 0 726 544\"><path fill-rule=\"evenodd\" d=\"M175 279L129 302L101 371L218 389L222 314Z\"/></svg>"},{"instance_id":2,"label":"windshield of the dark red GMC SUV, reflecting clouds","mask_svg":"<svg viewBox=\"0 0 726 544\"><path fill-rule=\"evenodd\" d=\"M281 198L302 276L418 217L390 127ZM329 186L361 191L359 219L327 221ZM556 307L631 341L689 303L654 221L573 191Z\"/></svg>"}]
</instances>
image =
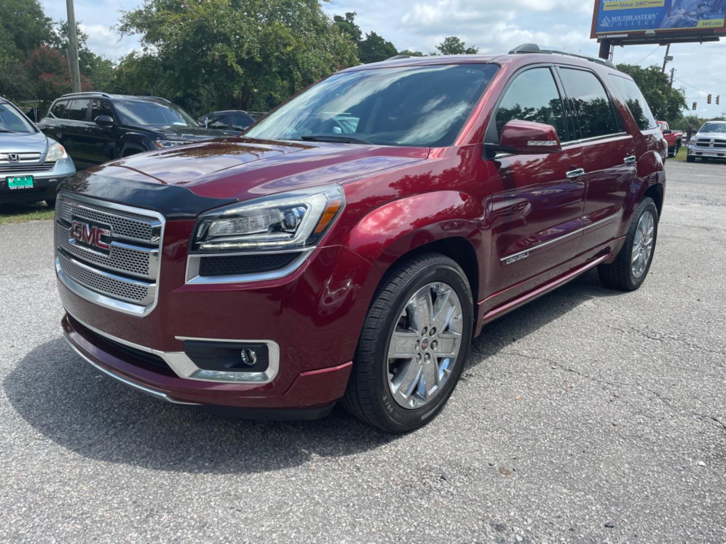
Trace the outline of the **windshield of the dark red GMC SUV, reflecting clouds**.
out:
<instances>
[{"instance_id":1,"label":"windshield of the dark red GMC SUV, reflecting clouds","mask_svg":"<svg viewBox=\"0 0 726 544\"><path fill-rule=\"evenodd\" d=\"M259 121L245 136L449 146L496 72L496 65L465 64L337 73Z\"/></svg>"}]
</instances>

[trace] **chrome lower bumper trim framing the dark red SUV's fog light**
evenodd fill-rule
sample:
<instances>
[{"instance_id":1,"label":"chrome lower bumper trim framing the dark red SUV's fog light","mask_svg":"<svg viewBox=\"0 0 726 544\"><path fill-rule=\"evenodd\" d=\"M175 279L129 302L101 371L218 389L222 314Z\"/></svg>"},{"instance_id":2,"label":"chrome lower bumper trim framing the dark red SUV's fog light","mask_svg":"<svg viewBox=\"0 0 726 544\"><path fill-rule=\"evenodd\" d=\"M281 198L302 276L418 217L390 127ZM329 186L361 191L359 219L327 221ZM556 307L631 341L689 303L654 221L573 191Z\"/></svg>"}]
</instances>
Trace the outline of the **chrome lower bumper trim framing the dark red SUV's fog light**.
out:
<instances>
[{"instance_id":1,"label":"chrome lower bumper trim framing the dark red SUV's fog light","mask_svg":"<svg viewBox=\"0 0 726 544\"><path fill-rule=\"evenodd\" d=\"M272 380L277 377L278 372L280 372L280 345L277 344L277 342L275 342L274 340L174 337L181 342L184 342L184 340L196 340L199 342L233 342L236 344L250 342L254 344L267 345L269 363L267 365L267 369L263 372L224 372L204 370L203 368L199 368L195 364L195 362L189 358L189 355L187 355L183 351L162 351L155 350L152 347L134 344L134 342L129 342L128 340L124 340L123 338L115 337L113 336L113 334L108 334L107 332L104 332L92 325L89 325L89 323L86 323L85 321L78 319L76 316L73 316L73 314L70 313L68 309L66 309L65 311L68 313L69 316L78 321L78 323L81 323L81 325L86 327L86 329L94 331L101 337L107 338L113 342L118 342L119 344L133 347L135 350L143 351L145 353L151 353L152 355L157 355L164 360L164 362L169 366L169 368L171 368L172 371L174 371L174 374L182 379L193 379L197 382L213 382L217 384L269 384L269 382L272 382Z\"/></svg>"}]
</instances>

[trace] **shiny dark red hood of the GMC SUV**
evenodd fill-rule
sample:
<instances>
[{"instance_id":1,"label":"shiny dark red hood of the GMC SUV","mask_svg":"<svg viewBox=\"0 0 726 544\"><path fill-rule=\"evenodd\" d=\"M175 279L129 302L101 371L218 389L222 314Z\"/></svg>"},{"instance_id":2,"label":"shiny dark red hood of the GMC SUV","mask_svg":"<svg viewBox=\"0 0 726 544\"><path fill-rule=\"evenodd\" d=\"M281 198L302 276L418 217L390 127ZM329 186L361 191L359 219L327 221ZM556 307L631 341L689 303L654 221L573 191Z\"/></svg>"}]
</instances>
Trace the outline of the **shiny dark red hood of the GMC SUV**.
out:
<instances>
[{"instance_id":1,"label":"shiny dark red hood of the GMC SUV","mask_svg":"<svg viewBox=\"0 0 726 544\"><path fill-rule=\"evenodd\" d=\"M424 160L428 152L422 147L224 138L107 162L78 173L66 188L117 202L139 202L144 192L144 205L149 207L154 207L156 199L169 198L167 194L159 197L163 188L174 189L177 194L187 189L195 197L217 202L247 200L343 183Z\"/></svg>"}]
</instances>

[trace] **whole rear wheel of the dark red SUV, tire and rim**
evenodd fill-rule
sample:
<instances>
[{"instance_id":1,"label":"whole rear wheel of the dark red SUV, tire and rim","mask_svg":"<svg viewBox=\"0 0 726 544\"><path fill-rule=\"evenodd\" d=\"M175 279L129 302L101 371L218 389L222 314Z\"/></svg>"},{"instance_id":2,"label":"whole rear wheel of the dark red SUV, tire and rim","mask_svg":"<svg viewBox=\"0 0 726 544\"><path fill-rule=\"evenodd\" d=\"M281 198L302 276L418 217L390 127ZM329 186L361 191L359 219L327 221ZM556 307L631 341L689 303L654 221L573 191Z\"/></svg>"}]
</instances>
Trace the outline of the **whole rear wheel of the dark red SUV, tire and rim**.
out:
<instances>
[{"instance_id":1,"label":"whole rear wheel of the dark red SUV, tire and rim","mask_svg":"<svg viewBox=\"0 0 726 544\"><path fill-rule=\"evenodd\" d=\"M650 197L638 205L615 262L597 267L605 287L635 291L648 276L658 238L658 208Z\"/></svg>"}]
</instances>

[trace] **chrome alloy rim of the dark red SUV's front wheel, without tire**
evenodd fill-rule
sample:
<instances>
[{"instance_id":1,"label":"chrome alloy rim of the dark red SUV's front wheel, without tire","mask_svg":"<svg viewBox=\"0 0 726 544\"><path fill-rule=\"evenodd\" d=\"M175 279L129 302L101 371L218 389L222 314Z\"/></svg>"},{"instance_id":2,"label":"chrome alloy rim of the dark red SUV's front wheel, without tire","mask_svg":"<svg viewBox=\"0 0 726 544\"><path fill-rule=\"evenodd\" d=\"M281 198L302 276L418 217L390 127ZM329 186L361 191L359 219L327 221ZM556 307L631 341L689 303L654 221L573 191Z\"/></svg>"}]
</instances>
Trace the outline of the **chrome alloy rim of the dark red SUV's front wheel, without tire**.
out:
<instances>
[{"instance_id":1,"label":"chrome alloy rim of the dark red SUV's front wheel, without tire","mask_svg":"<svg viewBox=\"0 0 726 544\"><path fill-rule=\"evenodd\" d=\"M436 281L413 294L388 343L388 387L396 403L420 408L441 392L457 363L463 324L451 286Z\"/></svg>"}]
</instances>

